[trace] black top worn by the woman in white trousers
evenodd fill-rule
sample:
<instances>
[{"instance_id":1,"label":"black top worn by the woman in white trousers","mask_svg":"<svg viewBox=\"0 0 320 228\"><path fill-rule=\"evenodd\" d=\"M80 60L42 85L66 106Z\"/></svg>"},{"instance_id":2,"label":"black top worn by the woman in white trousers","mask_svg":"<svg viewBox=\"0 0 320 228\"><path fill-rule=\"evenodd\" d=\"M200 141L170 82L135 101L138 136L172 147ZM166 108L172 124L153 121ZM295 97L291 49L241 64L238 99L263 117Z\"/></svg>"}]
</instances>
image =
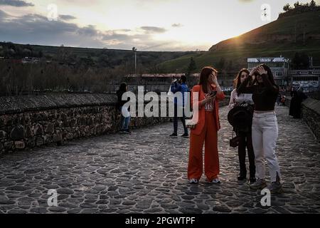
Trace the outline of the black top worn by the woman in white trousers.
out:
<instances>
[{"instance_id":1,"label":"black top worn by the woman in white trousers","mask_svg":"<svg viewBox=\"0 0 320 228\"><path fill-rule=\"evenodd\" d=\"M262 74L263 84L255 83L247 87L249 78L246 78L238 88L239 93L252 93L252 100L255 103L255 110L269 111L274 110L277 101L279 87L272 85L267 74Z\"/></svg>"}]
</instances>

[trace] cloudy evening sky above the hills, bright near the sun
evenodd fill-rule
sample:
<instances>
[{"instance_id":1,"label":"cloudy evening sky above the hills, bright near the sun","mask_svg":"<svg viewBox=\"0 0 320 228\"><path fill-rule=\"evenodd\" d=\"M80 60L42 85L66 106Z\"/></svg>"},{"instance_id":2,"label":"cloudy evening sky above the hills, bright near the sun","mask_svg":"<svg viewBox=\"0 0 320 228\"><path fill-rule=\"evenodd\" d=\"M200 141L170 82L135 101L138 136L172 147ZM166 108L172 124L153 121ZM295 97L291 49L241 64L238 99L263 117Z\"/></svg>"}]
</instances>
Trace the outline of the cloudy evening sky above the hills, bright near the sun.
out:
<instances>
[{"instance_id":1,"label":"cloudy evening sky above the hills, bright near the sun","mask_svg":"<svg viewBox=\"0 0 320 228\"><path fill-rule=\"evenodd\" d=\"M293 6L295 1L0 0L0 41L207 51L215 43L276 20L284 5ZM263 9L267 16L262 16Z\"/></svg>"}]
</instances>

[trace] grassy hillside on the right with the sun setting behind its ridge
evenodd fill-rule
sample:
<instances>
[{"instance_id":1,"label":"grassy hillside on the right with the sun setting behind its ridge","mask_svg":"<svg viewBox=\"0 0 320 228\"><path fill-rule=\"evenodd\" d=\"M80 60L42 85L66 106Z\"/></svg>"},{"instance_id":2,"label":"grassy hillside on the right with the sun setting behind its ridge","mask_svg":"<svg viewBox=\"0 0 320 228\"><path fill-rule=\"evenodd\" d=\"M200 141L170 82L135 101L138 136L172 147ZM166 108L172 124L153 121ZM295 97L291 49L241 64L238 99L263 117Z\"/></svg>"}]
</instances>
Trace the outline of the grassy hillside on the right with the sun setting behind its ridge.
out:
<instances>
[{"instance_id":1,"label":"grassy hillside on the right with the sun setting behind its ridge","mask_svg":"<svg viewBox=\"0 0 320 228\"><path fill-rule=\"evenodd\" d=\"M283 16L270 24L255 28L213 45L206 53L193 53L161 64L165 71L186 71L190 58L197 69L213 65L224 71L238 71L247 66L247 57L284 56L304 52L320 63L320 11ZM320 64L319 64L320 65Z\"/></svg>"}]
</instances>

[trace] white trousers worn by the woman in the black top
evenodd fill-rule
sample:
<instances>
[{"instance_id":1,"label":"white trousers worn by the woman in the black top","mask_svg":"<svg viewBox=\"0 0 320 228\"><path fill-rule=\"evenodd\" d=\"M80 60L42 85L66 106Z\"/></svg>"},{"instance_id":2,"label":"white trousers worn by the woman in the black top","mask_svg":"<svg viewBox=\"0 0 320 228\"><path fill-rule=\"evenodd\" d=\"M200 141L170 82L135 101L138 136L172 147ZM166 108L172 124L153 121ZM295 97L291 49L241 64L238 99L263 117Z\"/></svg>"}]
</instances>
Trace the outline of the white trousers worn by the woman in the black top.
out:
<instances>
[{"instance_id":1,"label":"white trousers worn by the woman in the black top","mask_svg":"<svg viewBox=\"0 0 320 228\"><path fill-rule=\"evenodd\" d=\"M280 176L279 164L275 155L278 138L278 123L275 113L254 113L252 118L252 146L255 152L256 177L265 179L265 160L269 167L271 182Z\"/></svg>"}]
</instances>

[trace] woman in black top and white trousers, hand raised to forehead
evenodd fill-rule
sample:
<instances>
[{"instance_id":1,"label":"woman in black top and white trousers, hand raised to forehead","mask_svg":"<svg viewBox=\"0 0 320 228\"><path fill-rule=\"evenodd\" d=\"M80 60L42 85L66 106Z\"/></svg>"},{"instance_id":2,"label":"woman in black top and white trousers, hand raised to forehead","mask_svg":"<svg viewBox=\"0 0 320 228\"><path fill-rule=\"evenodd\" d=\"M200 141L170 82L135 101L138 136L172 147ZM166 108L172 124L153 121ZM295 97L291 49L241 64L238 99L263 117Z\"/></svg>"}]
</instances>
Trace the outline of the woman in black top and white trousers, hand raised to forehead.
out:
<instances>
[{"instance_id":1,"label":"woman in black top and white trousers, hand raised to forehead","mask_svg":"<svg viewBox=\"0 0 320 228\"><path fill-rule=\"evenodd\" d=\"M247 87L249 80L252 86ZM255 112L252 118L252 145L255 152L257 181L250 188L259 190L267 187L265 181L265 160L270 172L271 184L267 187L272 193L282 192L280 170L275 155L278 138L278 123L274 113L279 87L274 83L272 71L265 64L253 68L249 77L238 88L240 93L252 93Z\"/></svg>"}]
</instances>

